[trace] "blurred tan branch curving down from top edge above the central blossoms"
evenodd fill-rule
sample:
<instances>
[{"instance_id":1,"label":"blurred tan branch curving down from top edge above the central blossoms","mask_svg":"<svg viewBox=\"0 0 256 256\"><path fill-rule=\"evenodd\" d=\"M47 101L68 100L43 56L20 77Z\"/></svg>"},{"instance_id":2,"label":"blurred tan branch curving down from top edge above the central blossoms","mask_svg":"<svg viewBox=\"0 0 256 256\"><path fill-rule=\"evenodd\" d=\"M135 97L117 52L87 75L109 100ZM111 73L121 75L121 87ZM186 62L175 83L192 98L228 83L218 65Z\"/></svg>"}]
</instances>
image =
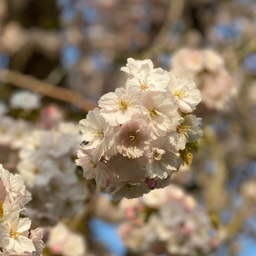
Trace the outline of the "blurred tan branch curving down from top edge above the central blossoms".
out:
<instances>
[{"instance_id":1,"label":"blurred tan branch curving down from top edge above the central blossoms","mask_svg":"<svg viewBox=\"0 0 256 256\"><path fill-rule=\"evenodd\" d=\"M161 49L163 49L166 43L166 35L168 31L171 30L174 22L178 20L178 18L182 14L182 11L184 9L184 4L185 4L185 0L170 1L169 10L167 13L165 23L163 24L157 37L154 39L152 46L141 54L140 59L152 59L161 51Z\"/></svg>"}]
</instances>

